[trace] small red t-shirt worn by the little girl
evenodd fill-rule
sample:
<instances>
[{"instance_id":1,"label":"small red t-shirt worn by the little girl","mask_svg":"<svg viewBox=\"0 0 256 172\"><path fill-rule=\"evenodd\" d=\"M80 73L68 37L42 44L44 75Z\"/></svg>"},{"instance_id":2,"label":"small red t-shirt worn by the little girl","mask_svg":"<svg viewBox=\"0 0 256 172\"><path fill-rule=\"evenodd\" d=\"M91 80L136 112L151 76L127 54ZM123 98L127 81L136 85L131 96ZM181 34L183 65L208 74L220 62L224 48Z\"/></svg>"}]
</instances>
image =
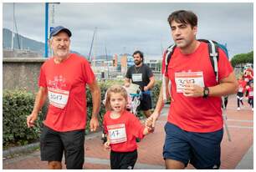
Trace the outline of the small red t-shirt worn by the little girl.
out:
<instances>
[{"instance_id":1,"label":"small red t-shirt worn by the little girl","mask_svg":"<svg viewBox=\"0 0 256 172\"><path fill-rule=\"evenodd\" d=\"M104 129L110 137L110 147L116 152L131 152L137 149L136 138L144 137L143 126L134 114L124 111L118 119L110 118L110 111L104 115Z\"/></svg>"}]
</instances>

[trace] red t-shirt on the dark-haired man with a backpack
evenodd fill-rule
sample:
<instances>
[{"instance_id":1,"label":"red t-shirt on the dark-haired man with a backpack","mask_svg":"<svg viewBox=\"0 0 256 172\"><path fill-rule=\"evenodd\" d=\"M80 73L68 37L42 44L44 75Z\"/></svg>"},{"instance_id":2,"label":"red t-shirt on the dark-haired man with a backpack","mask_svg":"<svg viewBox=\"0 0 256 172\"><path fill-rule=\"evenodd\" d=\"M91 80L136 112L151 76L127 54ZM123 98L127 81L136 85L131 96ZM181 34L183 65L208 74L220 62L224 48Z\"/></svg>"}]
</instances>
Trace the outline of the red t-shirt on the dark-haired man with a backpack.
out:
<instances>
[{"instance_id":1,"label":"red t-shirt on the dark-haired man with a backpack","mask_svg":"<svg viewBox=\"0 0 256 172\"><path fill-rule=\"evenodd\" d=\"M219 49L218 76L219 80L228 77L233 72L223 50ZM163 56L165 58L165 54ZM165 60L163 59L163 65ZM223 128L221 98L202 97L189 98L181 92L182 83L190 80L207 87L217 85L209 58L207 43L200 43L194 53L182 54L175 48L171 62L168 64L167 76L171 79L171 94L174 101L171 103L168 122L190 132L213 132ZM176 83L177 81L177 83ZM178 92L178 93L177 93Z\"/></svg>"}]
</instances>

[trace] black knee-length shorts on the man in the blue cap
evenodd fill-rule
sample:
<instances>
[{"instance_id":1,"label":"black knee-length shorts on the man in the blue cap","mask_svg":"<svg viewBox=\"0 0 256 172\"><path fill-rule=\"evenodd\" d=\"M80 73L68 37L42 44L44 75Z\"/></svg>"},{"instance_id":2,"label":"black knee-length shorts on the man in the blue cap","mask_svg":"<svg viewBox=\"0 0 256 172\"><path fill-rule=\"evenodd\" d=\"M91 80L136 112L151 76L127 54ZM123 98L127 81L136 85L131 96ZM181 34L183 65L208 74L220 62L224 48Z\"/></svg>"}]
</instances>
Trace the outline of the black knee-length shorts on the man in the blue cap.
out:
<instances>
[{"instance_id":1,"label":"black knee-length shorts on the man in the blue cap","mask_svg":"<svg viewBox=\"0 0 256 172\"><path fill-rule=\"evenodd\" d=\"M83 169L84 129L58 132L44 126L40 150L41 160L61 161L64 153L67 169Z\"/></svg>"}]
</instances>

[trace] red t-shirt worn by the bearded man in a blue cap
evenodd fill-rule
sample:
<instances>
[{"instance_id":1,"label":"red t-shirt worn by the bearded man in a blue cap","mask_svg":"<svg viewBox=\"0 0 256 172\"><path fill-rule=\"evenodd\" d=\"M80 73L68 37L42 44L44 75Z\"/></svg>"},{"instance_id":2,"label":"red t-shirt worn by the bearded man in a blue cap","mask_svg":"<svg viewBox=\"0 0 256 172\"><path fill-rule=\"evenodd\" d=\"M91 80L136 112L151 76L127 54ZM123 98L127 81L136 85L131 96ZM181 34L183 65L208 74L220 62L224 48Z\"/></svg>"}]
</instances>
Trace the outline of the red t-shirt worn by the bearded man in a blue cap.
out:
<instances>
[{"instance_id":1,"label":"red t-shirt worn by the bearded man in a blue cap","mask_svg":"<svg viewBox=\"0 0 256 172\"><path fill-rule=\"evenodd\" d=\"M49 109L44 124L56 131L84 129L86 124L86 83L95 74L90 63L75 53L62 63L49 58L40 70L39 87L48 89Z\"/></svg>"}]
</instances>

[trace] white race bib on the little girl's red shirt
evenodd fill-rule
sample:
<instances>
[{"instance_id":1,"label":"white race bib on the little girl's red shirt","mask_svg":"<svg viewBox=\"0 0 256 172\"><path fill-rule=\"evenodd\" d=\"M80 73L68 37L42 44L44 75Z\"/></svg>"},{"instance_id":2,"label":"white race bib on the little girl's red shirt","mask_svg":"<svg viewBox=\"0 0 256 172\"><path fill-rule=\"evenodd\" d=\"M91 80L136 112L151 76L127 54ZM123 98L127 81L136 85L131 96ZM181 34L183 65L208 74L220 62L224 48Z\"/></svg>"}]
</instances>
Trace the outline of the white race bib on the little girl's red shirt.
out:
<instances>
[{"instance_id":1,"label":"white race bib on the little girl's red shirt","mask_svg":"<svg viewBox=\"0 0 256 172\"><path fill-rule=\"evenodd\" d=\"M109 131L110 144L119 144L127 141L125 124L107 125Z\"/></svg>"}]
</instances>

